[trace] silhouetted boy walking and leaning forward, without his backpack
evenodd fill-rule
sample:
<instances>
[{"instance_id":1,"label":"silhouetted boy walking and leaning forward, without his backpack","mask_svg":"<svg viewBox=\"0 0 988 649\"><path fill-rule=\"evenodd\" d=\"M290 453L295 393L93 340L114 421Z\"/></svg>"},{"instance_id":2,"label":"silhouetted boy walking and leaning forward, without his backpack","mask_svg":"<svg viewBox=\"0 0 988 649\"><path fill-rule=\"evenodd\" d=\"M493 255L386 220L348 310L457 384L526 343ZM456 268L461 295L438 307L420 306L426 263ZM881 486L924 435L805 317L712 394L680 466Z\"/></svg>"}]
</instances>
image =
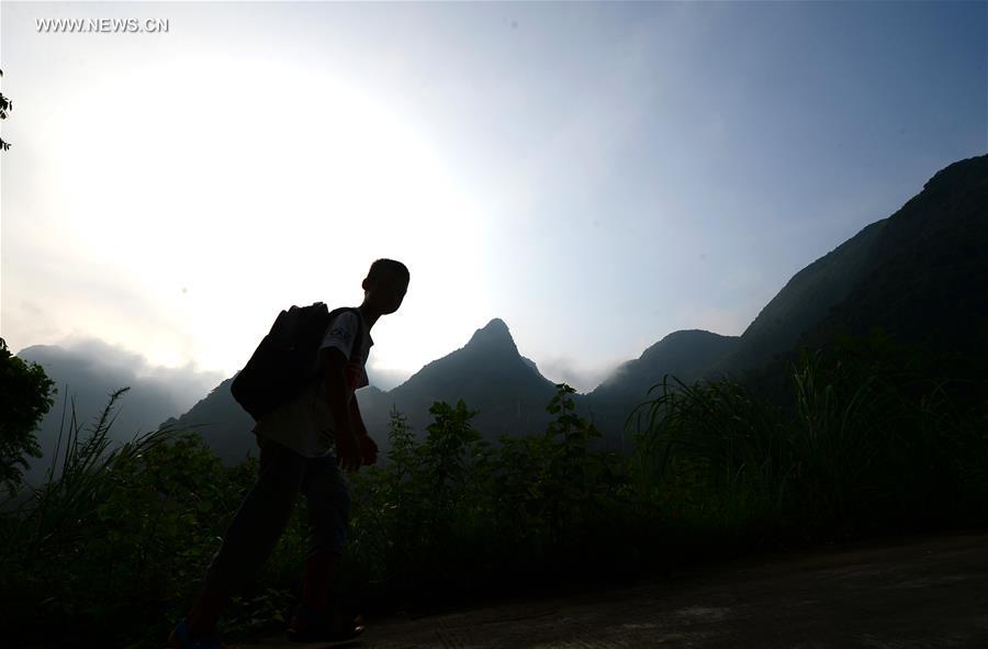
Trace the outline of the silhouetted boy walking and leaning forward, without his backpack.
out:
<instances>
[{"instance_id":1,"label":"silhouetted boy walking and leaning forward, without his backpack","mask_svg":"<svg viewBox=\"0 0 988 649\"><path fill-rule=\"evenodd\" d=\"M337 315L326 328L318 351L322 379L255 425L260 447L257 482L206 569L195 604L171 631L170 647L225 649L216 618L274 549L300 491L307 501L311 529L302 601L289 625L289 639L346 640L363 631L361 616L341 616L329 604L349 519L350 497L340 469L356 471L378 459L353 391L368 384L366 363L374 344L370 329L379 317L397 311L408 279L401 261L374 261L361 284L363 303Z\"/></svg>"}]
</instances>

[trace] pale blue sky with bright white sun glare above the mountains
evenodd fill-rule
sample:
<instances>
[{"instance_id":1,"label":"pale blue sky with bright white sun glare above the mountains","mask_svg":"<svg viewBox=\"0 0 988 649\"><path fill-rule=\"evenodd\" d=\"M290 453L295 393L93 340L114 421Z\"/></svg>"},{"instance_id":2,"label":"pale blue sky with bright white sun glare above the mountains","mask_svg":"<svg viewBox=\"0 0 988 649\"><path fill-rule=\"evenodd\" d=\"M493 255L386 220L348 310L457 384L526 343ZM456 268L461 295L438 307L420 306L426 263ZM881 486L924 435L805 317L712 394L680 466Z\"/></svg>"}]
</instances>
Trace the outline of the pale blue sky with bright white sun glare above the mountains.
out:
<instances>
[{"instance_id":1,"label":"pale blue sky with bright white sun glare above the mountains","mask_svg":"<svg viewBox=\"0 0 988 649\"><path fill-rule=\"evenodd\" d=\"M499 317L590 391L985 154L986 33L986 2L3 0L0 336L207 389L390 257L373 384Z\"/></svg>"}]
</instances>

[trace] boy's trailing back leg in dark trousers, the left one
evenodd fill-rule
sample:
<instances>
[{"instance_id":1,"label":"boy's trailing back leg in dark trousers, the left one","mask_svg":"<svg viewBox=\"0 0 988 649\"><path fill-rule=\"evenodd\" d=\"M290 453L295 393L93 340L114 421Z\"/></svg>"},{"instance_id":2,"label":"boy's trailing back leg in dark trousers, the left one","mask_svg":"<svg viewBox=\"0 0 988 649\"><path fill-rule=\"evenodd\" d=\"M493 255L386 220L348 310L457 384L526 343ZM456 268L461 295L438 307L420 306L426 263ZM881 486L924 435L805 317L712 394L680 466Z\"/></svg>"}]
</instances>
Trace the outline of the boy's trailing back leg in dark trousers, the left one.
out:
<instances>
[{"instance_id":1,"label":"boy's trailing back leg in dark trousers, the left one","mask_svg":"<svg viewBox=\"0 0 988 649\"><path fill-rule=\"evenodd\" d=\"M187 615L193 636L213 635L229 597L249 583L291 518L305 474L305 459L272 440L260 450L257 482L240 503L220 550L206 569L199 597Z\"/></svg>"}]
</instances>

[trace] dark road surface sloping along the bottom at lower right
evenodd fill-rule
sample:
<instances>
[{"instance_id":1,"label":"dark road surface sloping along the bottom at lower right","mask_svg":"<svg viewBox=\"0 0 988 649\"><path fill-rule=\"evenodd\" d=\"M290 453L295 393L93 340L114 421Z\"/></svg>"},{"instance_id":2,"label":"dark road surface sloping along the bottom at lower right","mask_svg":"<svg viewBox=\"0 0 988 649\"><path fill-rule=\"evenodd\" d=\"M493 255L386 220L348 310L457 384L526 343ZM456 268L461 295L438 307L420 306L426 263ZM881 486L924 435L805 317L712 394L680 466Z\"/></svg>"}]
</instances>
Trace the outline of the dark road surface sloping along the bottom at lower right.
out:
<instances>
[{"instance_id":1,"label":"dark road surface sloping along the bottom at lower right","mask_svg":"<svg viewBox=\"0 0 988 649\"><path fill-rule=\"evenodd\" d=\"M335 647L988 649L988 535L763 557L626 589L369 623ZM328 647L284 636L243 649Z\"/></svg>"}]
</instances>

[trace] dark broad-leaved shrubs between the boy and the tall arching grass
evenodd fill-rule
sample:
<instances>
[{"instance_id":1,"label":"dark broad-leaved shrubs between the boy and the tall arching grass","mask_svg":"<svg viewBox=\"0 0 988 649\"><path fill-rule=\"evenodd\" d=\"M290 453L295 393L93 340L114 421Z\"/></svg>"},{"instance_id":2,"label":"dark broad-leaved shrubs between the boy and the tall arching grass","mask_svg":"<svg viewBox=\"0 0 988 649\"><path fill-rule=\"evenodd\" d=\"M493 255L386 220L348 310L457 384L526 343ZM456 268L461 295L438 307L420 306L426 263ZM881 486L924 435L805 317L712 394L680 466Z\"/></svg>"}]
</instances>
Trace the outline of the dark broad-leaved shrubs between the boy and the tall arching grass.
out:
<instances>
[{"instance_id":1,"label":"dark broad-leaved shrubs between the boy and the tall arching grass","mask_svg":"<svg viewBox=\"0 0 988 649\"><path fill-rule=\"evenodd\" d=\"M592 448L600 434L575 414L573 392L558 387L547 409L557 418L543 434L503 436L496 447L462 401L435 403L424 439L393 411L386 467L355 481L360 537L349 564L362 562L380 588L419 598L518 570L563 570L564 557L615 529L609 505L622 484L619 458Z\"/></svg>"}]
</instances>

